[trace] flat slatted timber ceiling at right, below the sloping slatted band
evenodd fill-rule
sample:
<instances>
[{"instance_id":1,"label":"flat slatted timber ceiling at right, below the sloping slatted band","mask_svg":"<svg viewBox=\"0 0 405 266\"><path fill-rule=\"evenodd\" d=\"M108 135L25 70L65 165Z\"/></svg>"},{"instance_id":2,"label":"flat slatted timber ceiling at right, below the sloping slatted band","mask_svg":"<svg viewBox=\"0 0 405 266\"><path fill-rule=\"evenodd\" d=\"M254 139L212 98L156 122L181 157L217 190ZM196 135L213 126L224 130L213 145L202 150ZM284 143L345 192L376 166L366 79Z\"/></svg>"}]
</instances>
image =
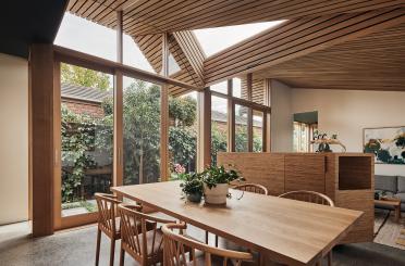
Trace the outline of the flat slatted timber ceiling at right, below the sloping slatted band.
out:
<instances>
[{"instance_id":1,"label":"flat slatted timber ceiling at right, below the sloping slatted band","mask_svg":"<svg viewBox=\"0 0 405 266\"><path fill-rule=\"evenodd\" d=\"M255 73L295 88L405 90L405 24Z\"/></svg>"}]
</instances>

